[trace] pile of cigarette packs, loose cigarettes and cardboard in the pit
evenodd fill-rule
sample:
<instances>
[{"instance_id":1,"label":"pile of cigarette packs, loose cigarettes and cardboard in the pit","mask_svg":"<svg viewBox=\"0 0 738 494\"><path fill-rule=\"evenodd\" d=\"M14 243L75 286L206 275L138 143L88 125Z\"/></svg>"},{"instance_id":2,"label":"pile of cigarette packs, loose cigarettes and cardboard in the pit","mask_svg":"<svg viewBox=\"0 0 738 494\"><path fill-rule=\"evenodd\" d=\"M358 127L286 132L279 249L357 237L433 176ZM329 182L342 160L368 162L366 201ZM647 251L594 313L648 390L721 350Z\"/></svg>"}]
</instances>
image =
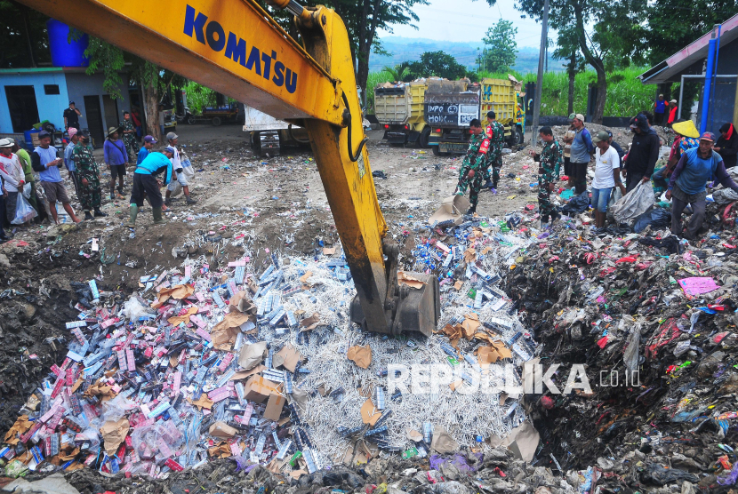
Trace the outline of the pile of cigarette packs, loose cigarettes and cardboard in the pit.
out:
<instances>
[{"instance_id":1,"label":"pile of cigarette packs, loose cigarettes and cardboard in the pit","mask_svg":"<svg viewBox=\"0 0 738 494\"><path fill-rule=\"evenodd\" d=\"M68 352L5 434L5 474L87 466L162 479L233 458L299 478L500 445L530 461L538 434L504 383L506 372L519 382L540 347L501 283L531 240L492 225L436 225L444 235L419 245L414 260L436 268L442 286L429 338L349 322L356 291L340 247L311 258L272 252L261 266L247 253L215 271L205 256L188 258L141 276L127 299L98 280L72 283ZM411 290L421 283L399 278ZM436 382L437 368L446 371Z\"/></svg>"}]
</instances>

